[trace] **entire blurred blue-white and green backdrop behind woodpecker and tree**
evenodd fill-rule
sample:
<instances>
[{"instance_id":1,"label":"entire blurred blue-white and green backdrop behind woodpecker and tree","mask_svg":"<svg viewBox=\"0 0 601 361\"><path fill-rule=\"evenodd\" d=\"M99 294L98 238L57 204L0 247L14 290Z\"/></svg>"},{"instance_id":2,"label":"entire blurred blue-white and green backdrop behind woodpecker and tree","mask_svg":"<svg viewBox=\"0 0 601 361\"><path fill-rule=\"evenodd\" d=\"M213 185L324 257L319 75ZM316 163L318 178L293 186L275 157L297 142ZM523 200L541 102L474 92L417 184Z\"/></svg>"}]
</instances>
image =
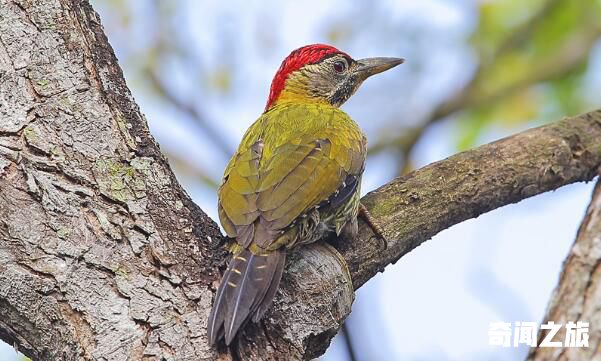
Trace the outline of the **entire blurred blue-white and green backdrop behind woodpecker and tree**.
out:
<instances>
[{"instance_id":1,"label":"entire blurred blue-white and green backdrop behind woodpecker and tree","mask_svg":"<svg viewBox=\"0 0 601 361\"><path fill-rule=\"evenodd\" d=\"M368 135L363 189L601 106L599 0L92 1L153 135L194 200L215 187L271 77L301 45L402 56L343 106ZM448 229L357 292L355 359L520 360L491 322L543 318L591 184ZM0 360L16 353L0 345ZM350 360L337 337L323 360Z\"/></svg>"}]
</instances>

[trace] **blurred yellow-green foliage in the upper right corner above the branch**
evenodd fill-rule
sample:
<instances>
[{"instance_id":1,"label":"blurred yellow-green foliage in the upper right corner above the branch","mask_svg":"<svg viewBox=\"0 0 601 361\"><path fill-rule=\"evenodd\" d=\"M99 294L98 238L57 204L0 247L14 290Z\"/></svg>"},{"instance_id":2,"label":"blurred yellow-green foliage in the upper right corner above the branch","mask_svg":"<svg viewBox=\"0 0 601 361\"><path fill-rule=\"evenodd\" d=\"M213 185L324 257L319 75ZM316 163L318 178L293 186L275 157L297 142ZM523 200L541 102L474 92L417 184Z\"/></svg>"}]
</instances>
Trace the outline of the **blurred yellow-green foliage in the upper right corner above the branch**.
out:
<instances>
[{"instance_id":1,"label":"blurred yellow-green foliage in the upper right corner above the branch","mask_svg":"<svg viewBox=\"0 0 601 361\"><path fill-rule=\"evenodd\" d=\"M479 14L470 41L480 72L458 117L459 149L474 146L492 124L516 127L586 109L579 92L601 35L599 1L483 2ZM553 111L545 111L549 104Z\"/></svg>"}]
</instances>

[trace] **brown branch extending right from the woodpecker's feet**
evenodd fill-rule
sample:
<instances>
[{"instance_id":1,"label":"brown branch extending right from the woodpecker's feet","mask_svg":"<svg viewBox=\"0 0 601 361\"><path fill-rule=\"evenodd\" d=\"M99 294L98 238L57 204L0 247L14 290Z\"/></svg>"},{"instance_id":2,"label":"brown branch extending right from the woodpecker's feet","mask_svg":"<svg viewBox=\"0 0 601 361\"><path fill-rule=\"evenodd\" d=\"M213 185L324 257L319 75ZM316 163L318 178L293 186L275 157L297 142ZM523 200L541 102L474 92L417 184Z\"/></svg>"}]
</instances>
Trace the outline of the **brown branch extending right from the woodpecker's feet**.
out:
<instances>
[{"instance_id":1,"label":"brown branch extending right from the woodpecker's feet","mask_svg":"<svg viewBox=\"0 0 601 361\"><path fill-rule=\"evenodd\" d=\"M389 239L364 223L341 244L355 288L438 232L563 185L589 181L601 164L601 111L513 135L395 179L361 201Z\"/></svg>"}]
</instances>

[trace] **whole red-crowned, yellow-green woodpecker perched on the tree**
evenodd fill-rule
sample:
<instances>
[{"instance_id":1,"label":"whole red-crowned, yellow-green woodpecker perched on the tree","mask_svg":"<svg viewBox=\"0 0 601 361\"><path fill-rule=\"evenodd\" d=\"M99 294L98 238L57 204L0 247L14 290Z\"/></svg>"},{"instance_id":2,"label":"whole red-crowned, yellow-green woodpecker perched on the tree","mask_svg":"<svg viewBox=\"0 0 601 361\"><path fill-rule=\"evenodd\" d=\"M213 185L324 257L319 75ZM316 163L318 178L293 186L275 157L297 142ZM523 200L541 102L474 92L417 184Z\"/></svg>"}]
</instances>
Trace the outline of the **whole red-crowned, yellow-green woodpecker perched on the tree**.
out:
<instances>
[{"instance_id":1,"label":"whole red-crowned, yellow-green woodpecker perched on the tree","mask_svg":"<svg viewBox=\"0 0 601 361\"><path fill-rule=\"evenodd\" d=\"M402 58L354 60L324 44L298 48L271 83L219 187L232 257L208 320L211 345L230 345L276 294L286 254L329 234L356 237L366 138L339 107Z\"/></svg>"}]
</instances>

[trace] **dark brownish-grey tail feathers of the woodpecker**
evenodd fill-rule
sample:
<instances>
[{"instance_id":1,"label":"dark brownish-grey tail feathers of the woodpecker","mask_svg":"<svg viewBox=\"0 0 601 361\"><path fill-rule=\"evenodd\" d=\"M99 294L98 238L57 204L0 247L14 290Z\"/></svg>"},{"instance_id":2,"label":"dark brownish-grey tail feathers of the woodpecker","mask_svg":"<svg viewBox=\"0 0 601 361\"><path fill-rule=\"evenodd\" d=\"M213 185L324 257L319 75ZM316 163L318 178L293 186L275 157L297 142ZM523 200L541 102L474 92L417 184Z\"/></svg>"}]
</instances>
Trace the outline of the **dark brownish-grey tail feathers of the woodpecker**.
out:
<instances>
[{"instance_id":1,"label":"dark brownish-grey tail feathers of the woodpecker","mask_svg":"<svg viewBox=\"0 0 601 361\"><path fill-rule=\"evenodd\" d=\"M248 320L261 319L275 296L285 260L285 250L253 254L243 249L232 257L209 315L211 344L224 335L229 345Z\"/></svg>"}]
</instances>

